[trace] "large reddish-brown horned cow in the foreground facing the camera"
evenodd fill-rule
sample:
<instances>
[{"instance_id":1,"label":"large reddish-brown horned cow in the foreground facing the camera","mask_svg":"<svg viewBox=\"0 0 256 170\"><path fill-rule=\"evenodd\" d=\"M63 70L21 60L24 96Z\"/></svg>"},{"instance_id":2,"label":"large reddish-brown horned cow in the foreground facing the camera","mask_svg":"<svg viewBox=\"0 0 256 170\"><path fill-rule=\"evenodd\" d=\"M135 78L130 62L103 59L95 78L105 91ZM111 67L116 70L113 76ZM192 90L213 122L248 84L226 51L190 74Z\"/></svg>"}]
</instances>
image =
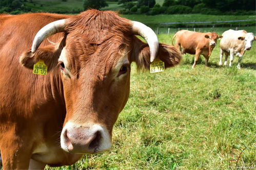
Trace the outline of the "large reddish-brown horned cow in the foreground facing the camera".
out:
<instances>
[{"instance_id":1,"label":"large reddish-brown horned cow in the foreground facing the camera","mask_svg":"<svg viewBox=\"0 0 256 170\"><path fill-rule=\"evenodd\" d=\"M159 58L171 67L182 57L143 23L111 11L1 15L0 32L4 169L69 165L109 150L128 100L131 62L149 69ZM39 60L46 76L32 74Z\"/></svg>"}]
</instances>

